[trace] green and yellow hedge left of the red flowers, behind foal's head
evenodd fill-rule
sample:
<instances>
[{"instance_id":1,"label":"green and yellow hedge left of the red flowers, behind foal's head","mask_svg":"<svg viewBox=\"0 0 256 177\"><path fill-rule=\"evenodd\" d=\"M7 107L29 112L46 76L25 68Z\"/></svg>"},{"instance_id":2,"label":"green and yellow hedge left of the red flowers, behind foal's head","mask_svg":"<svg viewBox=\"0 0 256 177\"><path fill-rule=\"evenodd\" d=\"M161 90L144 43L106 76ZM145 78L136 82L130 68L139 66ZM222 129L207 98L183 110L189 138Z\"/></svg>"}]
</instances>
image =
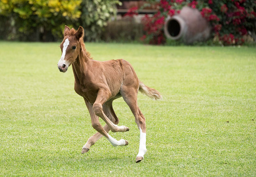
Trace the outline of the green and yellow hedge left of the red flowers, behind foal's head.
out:
<instances>
[{"instance_id":1,"label":"green and yellow hedge left of the red flowers, behind foal's head","mask_svg":"<svg viewBox=\"0 0 256 177\"><path fill-rule=\"evenodd\" d=\"M0 39L56 41L65 25L85 28L85 38L99 40L116 14L115 0L1 0Z\"/></svg>"}]
</instances>

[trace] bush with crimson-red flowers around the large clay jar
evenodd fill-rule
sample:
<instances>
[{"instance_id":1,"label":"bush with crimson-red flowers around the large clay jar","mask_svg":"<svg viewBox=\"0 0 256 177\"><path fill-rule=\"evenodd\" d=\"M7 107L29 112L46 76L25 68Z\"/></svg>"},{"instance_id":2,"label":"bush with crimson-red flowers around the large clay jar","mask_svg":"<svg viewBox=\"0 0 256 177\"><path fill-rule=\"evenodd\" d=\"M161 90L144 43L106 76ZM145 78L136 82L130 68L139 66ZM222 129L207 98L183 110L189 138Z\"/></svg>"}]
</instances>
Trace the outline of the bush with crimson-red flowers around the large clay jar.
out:
<instances>
[{"instance_id":1,"label":"bush with crimson-red flowers around the large clay jar","mask_svg":"<svg viewBox=\"0 0 256 177\"><path fill-rule=\"evenodd\" d=\"M255 0L155 0L157 13L142 19L146 34L141 40L149 44L164 44L164 20L179 14L183 6L196 8L212 25L212 37L223 45L240 45L249 31L255 33ZM254 39L255 40L255 39Z\"/></svg>"}]
</instances>

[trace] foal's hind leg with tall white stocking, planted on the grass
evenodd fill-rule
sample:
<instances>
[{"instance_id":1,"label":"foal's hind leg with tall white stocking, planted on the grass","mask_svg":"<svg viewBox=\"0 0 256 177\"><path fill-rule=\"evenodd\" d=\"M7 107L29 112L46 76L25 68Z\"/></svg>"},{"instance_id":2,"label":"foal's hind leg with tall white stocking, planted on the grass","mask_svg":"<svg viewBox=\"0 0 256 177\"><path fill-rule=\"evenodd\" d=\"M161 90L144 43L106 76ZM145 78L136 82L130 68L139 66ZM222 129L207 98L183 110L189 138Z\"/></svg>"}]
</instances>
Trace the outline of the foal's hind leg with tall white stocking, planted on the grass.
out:
<instances>
[{"instance_id":1,"label":"foal's hind leg with tall white stocking, planted on the grass","mask_svg":"<svg viewBox=\"0 0 256 177\"><path fill-rule=\"evenodd\" d=\"M146 148L146 119L140 111L137 103L137 90L127 87L122 87L121 95L124 98L125 103L129 106L132 114L135 117L135 122L140 130L140 146L139 153L136 156L136 163L144 159L144 154L147 151Z\"/></svg>"}]
</instances>

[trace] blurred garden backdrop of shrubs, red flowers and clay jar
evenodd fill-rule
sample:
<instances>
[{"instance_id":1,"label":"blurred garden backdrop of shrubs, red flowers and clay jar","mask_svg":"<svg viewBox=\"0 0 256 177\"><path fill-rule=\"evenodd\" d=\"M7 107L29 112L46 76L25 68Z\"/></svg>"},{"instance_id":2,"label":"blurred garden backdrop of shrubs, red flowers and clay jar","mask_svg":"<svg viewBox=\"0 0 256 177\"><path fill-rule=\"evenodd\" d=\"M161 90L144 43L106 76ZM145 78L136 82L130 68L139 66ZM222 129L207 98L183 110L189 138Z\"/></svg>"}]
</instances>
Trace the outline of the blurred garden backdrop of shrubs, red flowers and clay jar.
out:
<instances>
[{"instance_id":1,"label":"blurred garden backdrop of shrubs, red flowers and clay jar","mask_svg":"<svg viewBox=\"0 0 256 177\"><path fill-rule=\"evenodd\" d=\"M1 0L0 40L243 45L256 41L255 0Z\"/></svg>"}]
</instances>

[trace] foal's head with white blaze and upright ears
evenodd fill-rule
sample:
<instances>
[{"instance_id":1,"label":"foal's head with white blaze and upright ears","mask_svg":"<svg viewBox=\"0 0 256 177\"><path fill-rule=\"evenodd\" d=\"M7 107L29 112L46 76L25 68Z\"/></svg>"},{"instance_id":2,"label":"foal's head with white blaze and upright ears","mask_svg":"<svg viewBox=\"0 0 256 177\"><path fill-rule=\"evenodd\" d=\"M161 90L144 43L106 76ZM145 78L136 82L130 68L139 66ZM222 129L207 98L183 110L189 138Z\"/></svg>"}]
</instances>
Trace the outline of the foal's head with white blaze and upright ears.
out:
<instances>
[{"instance_id":1,"label":"foal's head with white blaze and upright ears","mask_svg":"<svg viewBox=\"0 0 256 177\"><path fill-rule=\"evenodd\" d=\"M74 28L70 29L65 25L64 28L64 39L60 44L61 57L58 62L58 68L60 72L66 72L68 67L75 62L79 54L79 40L84 37L84 29L79 26L76 31Z\"/></svg>"}]
</instances>

